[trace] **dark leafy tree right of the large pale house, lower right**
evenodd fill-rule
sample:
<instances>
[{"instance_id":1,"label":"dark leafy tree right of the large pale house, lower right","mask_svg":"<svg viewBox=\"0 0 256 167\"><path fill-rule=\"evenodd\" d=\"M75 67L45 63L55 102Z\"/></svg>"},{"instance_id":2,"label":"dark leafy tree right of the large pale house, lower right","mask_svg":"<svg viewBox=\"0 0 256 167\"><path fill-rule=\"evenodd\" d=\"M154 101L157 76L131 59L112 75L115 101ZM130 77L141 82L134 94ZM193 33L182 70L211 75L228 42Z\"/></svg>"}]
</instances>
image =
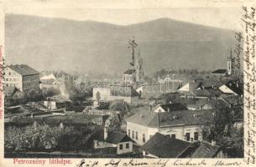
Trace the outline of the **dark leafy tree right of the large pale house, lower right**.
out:
<instances>
[{"instance_id":1,"label":"dark leafy tree right of the large pale house, lower right","mask_svg":"<svg viewBox=\"0 0 256 167\"><path fill-rule=\"evenodd\" d=\"M216 110L214 115L205 112L201 115L202 137L209 142L215 140L229 156L243 157L243 129L235 129L233 120L227 108Z\"/></svg>"}]
</instances>

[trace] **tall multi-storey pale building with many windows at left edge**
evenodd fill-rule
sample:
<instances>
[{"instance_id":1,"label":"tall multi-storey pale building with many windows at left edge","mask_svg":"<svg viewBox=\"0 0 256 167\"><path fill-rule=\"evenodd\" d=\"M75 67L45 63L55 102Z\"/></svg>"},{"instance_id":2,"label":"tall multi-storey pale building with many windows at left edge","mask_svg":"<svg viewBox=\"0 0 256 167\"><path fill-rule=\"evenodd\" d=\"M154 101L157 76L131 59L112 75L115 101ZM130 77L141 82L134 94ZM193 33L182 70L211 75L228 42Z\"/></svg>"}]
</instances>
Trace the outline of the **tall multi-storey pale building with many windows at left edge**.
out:
<instances>
[{"instance_id":1,"label":"tall multi-storey pale building with many windows at left edge","mask_svg":"<svg viewBox=\"0 0 256 167\"><path fill-rule=\"evenodd\" d=\"M4 68L4 88L16 87L22 92L39 89L39 72L28 65L9 65Z\"/></svg>"}]
</instances>

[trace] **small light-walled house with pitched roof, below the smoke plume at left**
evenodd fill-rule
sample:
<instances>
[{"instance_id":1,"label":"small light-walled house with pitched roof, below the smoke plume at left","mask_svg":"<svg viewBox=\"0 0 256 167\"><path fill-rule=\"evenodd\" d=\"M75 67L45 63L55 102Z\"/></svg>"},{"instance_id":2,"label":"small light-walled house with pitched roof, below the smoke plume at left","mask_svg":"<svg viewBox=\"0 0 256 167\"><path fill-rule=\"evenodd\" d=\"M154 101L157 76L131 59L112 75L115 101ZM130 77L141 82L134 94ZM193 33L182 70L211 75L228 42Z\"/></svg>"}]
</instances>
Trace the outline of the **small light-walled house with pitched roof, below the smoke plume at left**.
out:
<instances>
[{"instance_id":1,"label":"small light-walled house with pitched roof, below the smoke plume at left","mask_svg":"<svg viewBox=\"0 0 256 167\"><path fill-rule=\"evenodd\" d=\"M70 109L71 100L59 94L46 98L44 106L47 109Z\"/></svg>"}]
</instances>

